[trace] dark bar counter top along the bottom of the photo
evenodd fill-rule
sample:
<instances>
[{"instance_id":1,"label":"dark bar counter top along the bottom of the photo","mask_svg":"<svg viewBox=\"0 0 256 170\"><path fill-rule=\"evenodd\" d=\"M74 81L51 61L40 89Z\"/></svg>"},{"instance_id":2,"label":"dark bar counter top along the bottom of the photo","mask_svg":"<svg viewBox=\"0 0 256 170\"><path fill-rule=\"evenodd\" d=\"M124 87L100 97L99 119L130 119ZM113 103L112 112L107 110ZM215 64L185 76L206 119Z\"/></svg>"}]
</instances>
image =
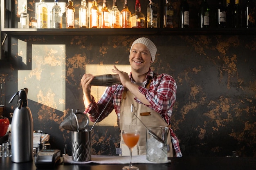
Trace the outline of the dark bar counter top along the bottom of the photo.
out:
<instances>
[{"instance_id":1,"label":"dark bar counter top along the bottom of the photo","mask_svg":"<svg viewBox=\"0 0 256 170\"><path fill-rule=\"evenodd\" d=\"M168 164L133 164L139 170L256 170L255 157L181 157L169 158ZM122 170L126 164L59 164L54 170ZM0 170L49 170L36 168L34 161L13 163L0 158Z\"/></svg>"}]
</instances>

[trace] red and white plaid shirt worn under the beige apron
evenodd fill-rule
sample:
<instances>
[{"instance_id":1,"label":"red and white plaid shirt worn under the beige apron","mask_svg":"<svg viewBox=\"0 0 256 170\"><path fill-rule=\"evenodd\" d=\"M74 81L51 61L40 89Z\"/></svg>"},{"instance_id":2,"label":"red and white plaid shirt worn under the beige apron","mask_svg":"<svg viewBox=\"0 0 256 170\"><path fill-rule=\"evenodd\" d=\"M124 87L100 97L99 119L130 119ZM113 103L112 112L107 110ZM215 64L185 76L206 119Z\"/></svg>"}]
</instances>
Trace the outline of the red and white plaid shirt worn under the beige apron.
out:
<instances>
[{"instance_id":1,"label":"red and white plaid shirt worn under the beige apron","mask_svg":"<svg viewBox=\"0 0 256 170\"><path fill-rule=\"evenodd\" d=\"M131 82L135 83L132 79L131 73L129 77ZM171 75L153 73L150 68L148 74L146 75L147 82L149 82L149 79L152 79L149 89L139 86L139 92L144 94L148 102L150 102L150 105L146 106L159 113L169 125L171 123L170 119L173 112L173 104L176 100L176 82ZM101 114L98 121L101 121L107 117L112 110L115 109L119 119L123 91L124 86L119 84L106 88L106 91L103 93L98 102L95 102L94 97L92 97L92 102L85 109L84 113L89 113L88 116L90 117L90 120L94 122L99 117L103 109L104 112ZM143 104L139 99L137 99L137 97L135 97L135 101L139 104ZM173 149L176 153L175 157L182 157L179 141L171 128L170 132Z\"/></svg>"}]
</instances>

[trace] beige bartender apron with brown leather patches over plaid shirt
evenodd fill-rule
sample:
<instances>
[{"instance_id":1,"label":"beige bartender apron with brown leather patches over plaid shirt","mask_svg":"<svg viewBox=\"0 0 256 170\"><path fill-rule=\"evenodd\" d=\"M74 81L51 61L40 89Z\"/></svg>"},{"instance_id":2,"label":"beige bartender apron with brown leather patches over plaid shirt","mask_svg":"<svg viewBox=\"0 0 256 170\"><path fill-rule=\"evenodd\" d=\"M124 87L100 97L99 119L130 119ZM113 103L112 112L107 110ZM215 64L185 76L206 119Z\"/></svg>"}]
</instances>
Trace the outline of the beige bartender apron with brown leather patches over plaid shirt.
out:
<instances>
[{"instance_id":1,"label":"beige bartender apron with brown leather patches over plaid shirt","mask_svg":"<svg viewBox=\"0 0 256 170\"><path fill-rule=\"evenodd\" d=\"M127 90L124 89L121 99L121 112L120 112L120 130L125 129L137 129L140 131L139 141L137 146L132 150L132 155L146 155L146 128L137 119L137 117L147 126L168 126L159 113L155 110L148 108L143 104L138 104L134 100L135 96ZM131 104L133 105L131 112ZM137 117L135 115L137 115ZM173 157L173 148L171 144L171 135L168 131L167 145L169 146L168 157ZM122 156L130 155L128 147L124 144L124 140L121 135L120 148L122 151Z\"/></svg>"}]
</instances>

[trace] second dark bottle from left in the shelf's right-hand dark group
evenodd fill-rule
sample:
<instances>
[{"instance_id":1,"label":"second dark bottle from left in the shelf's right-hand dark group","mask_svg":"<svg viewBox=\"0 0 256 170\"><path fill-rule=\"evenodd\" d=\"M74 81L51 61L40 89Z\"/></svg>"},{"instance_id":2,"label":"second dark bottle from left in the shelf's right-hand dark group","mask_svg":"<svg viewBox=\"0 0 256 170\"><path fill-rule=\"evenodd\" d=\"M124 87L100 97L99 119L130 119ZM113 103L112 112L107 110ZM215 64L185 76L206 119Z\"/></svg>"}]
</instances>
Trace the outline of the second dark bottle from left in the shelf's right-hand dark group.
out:
<instances>
[{"instance_id":1,"label":"second dark bottle from left in the shelf's right-hand dark group","mask_svg":"<svg viewBox=\"0 0 256 170\"><path fill-rule=\"evenodd\" d=\"M180 28L189 28L189 4L182 0L180 4Z\"/></svg>"}]
</instances>

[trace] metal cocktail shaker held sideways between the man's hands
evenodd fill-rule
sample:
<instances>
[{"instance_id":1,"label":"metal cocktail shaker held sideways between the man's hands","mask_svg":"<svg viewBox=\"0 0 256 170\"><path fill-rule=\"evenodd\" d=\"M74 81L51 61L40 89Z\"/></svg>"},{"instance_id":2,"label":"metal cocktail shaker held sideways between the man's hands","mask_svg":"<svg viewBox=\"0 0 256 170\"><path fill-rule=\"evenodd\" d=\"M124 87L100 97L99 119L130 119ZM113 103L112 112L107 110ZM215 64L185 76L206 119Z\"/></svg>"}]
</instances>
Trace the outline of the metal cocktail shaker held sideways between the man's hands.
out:
<instances>
[{"instance_id":1,"label":"metal cocktail shaker held sideways between the man's hands","mask_svg":"<svg viewBox=\"0 0 256 170\"><path fill-rule=\"evenodd\" d=\"M118 74L96 75L91 82L92 86L112 86L115 84L121 84Z\"/></svg>"}]
</instances>

